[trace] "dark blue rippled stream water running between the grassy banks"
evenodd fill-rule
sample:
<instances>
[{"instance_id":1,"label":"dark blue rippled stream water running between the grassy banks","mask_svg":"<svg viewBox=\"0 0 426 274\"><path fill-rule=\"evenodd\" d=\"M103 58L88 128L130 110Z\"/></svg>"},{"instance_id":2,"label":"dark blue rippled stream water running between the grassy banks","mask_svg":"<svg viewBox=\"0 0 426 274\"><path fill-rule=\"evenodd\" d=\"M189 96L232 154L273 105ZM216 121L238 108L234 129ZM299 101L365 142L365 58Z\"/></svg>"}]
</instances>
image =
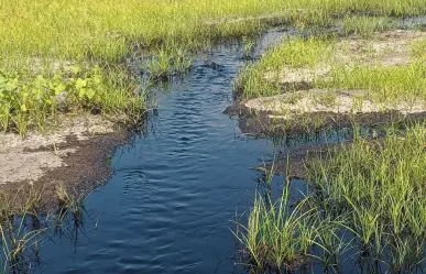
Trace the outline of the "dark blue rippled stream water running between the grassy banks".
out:
<instances>
[{"instance_id":1,"label":"dark blue rippled stream water running between the grassy banks","mask_svg":"<svg viewBox=\"0 0 426 274\"><path fill-rule=\"evenodd\" d=\"M267 34L255 51L274 42ZM244 65L239 45L208 55L160 95L145 136L119 147L116 174L85 204L84 228L41 248L42 273L232 273L231 222L251 204L270 158L269 140L248 140L222 111ZM75 235L70 233L72 235Z\"/></svg>"}]
</instances>

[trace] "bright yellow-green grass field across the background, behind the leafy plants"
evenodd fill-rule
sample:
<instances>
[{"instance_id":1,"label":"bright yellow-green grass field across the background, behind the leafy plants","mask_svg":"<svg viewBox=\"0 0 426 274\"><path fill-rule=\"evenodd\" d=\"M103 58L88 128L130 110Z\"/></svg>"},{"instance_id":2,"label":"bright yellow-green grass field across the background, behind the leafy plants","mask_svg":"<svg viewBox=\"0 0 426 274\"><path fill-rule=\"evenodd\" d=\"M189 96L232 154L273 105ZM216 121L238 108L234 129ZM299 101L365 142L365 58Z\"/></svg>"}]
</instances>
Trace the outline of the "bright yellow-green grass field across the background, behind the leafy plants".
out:
<instances>
[{"instance_id":1,"label":"bright yellow-green grass field across the background, behind the leafy plants","mask_svg":"<svg viewBox=\"0 0 426 274\"><path fill-rule=\"evenodd\" d=\"M133 45L151 47L159 42L183 41L189 46L211 36L245 32L245 23L233 30L225 23L205 24L223 18L277 13L287 22L327 22L331 13L426 13L422 0L125 0L113 4L106 0L2 0L0 7L0 36L7 37L0 42L0 59L10 66L13 61L20 64L32 56L114 62L128 55Z\"/></svg>"}]
</instances>

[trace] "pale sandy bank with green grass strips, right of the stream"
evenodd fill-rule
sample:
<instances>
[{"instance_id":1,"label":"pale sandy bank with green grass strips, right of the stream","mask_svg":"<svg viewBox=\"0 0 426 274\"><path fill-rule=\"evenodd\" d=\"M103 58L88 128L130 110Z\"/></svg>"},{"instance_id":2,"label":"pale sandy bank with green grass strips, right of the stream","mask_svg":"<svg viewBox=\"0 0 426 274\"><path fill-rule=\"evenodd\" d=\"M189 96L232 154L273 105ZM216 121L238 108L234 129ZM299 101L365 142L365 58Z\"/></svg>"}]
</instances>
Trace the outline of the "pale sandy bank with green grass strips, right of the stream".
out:
<instances>
[{"instance_id":1,"label":"pale sandy bank with green grass strips, right of the stream","mask_svg":"<svg viewBox=\"0 0 426 274\"><path fill-rule=\"evenodd\" d=\"M426 112L424 41L418 31L285 41L241 73L236 92L245 113L272 119L269 123L417 116Z\"/></svg>"}]
</instances>

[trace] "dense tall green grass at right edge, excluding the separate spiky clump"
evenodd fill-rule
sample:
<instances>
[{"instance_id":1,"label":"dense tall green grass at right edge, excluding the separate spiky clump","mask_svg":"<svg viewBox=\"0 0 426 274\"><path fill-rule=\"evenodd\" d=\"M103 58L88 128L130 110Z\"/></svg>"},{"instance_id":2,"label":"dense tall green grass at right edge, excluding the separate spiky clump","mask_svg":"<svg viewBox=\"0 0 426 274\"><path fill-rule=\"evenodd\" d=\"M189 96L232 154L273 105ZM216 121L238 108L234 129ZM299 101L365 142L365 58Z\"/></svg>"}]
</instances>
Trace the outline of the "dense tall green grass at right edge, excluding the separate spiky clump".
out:
<instances>
[{"instance_id":1,"label":"dense tall green grass at right edge, excluding the separate spiky clump","mask_svg":"<svg viewBox=\"0 0 426 274\"><path fill-rule=\"evenodd\" d=\"M426 129L390 129L384 140L357 139L308 162L317 202L347 216L361 256L392 272L412 271L426 251Z\"/></svg>"}]
</instances>

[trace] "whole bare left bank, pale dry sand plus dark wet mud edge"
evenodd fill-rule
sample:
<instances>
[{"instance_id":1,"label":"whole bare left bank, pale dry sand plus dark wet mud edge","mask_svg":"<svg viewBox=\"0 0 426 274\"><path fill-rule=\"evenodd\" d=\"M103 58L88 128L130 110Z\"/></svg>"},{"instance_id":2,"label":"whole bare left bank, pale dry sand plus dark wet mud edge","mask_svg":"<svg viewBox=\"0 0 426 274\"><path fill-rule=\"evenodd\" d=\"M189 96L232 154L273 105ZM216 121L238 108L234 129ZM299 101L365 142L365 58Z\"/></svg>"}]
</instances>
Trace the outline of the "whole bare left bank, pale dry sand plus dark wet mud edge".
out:
<instances>
[{"instance_id":1,"label":"whole bare left bank, pale dry sand plus dark wet mud edge","mask_svg":"<svg viewBox=\"0 0 426 274\"><path fill-rule=\"evenodd\" d=\"M41 208L55 210L58 185L77 197L103 184L111 169L108 158L129 140L127 130L100 116L63 117L54 132L0 134L0 190L25 200L41 191Z\"/></svg>"}]
</instances>

